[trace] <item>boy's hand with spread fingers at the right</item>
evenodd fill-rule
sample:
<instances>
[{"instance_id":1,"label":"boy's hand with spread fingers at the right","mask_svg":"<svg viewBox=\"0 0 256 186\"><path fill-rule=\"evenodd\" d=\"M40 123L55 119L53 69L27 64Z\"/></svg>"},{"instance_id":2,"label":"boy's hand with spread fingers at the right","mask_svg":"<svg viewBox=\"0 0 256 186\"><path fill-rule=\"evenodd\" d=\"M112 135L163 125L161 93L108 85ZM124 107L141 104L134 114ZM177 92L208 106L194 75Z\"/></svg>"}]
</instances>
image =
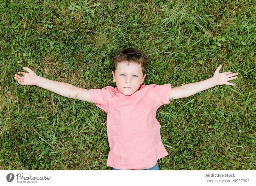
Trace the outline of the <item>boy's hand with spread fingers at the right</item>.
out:
<instances>
[{"instance_id":1,"label":"boy's hand with spread fingers at the right","mask_svg":"<svg viewBox=\"0 0 256 186\"><path fill-rule=\"evenodd\" d=\"M221 68L221 64L215 70L214 75L212 77L215 80L215 82L216 82L215 85L232 85L232 86L235 86L234 83L230 83L228 81L236 79L237 76L235 76L235 75L238 75L238 73L233 73L233 72L222 72L222 73L219 73L220 68ZM235 77L233 77L233 76L235 76Z\"/></svg>"}]
</instances>

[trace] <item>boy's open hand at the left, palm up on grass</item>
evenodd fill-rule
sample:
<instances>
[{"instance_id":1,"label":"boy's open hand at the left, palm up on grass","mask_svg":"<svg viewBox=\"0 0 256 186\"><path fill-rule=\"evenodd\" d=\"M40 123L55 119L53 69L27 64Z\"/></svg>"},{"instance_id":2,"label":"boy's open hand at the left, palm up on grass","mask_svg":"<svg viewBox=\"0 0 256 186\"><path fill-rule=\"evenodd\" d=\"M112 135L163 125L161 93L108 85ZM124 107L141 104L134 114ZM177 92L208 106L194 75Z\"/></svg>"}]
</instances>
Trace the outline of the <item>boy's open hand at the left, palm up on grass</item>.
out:
<instances>
[{"instance_id":1,"label":"boy's open hand at the left, palm up on grass","mask_svg":"<svg viewBox=\"0 0 256 186\"><path fill-rule=\"evenodd\" d=\"M22 67L27 72L18 72L18 74L23 74L23 76L19 76L18 74L14 74L14 79L18 81L20 85L36 85L36 78L38 77L33 70L28 67Z\"/></svg>"}]
</instances>

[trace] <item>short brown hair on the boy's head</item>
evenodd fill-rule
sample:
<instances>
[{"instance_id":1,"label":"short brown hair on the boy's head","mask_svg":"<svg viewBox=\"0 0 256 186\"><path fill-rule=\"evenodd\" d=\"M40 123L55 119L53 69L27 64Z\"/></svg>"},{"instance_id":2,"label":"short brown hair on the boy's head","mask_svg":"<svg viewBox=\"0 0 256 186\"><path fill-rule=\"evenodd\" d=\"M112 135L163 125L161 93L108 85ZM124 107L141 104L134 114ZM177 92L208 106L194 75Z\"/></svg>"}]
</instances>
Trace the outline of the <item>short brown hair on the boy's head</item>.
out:
<instances>
[{"instance_id":1,"label":"short brown hair on the boy's head","mask_svg":"<svg viewBox=\"0 0 256 186\"><path fill-rule=\"evenodd\" d=\"M143 73L143 76L146 73L146 64L147 64L147 56L140 51L139 49L120 49L116 52L115 56L112 58L113 61L113 71L115 73L116 67L118 63L122 62L132 62L137 63L141 66L141 71Z\"/></svg>"}]
</instances>

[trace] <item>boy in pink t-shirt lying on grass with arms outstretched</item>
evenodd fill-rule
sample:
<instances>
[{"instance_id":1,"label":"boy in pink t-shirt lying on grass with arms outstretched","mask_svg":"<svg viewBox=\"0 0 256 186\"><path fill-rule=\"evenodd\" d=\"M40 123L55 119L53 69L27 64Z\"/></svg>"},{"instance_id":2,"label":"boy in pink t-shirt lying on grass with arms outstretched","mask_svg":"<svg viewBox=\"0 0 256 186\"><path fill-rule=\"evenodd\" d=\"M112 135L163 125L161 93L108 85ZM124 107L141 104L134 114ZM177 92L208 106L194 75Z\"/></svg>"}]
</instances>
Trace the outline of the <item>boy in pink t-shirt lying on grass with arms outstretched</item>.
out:
<instances>
[{"instance_id":1,"label":"boy in pink t-shirt lying on grass with arms outstretched","mask_svg":"<svg viewBox=\"0 0 256 186\"><path fill-rule=\"evenodd\" d=\"M21 85L36 85L64 97L95 103L107 115L110 151L107 166L112 170L159 170L157 160L167 156L161 136L156 110L170 99L189 97L216 85L232 85L238 73L219 73L212 78L172 88L171 84L142 85L146 72L146 55L138 49L121 49L113 58L113 81L116 88L81 89L68 83L52 81L28 73L15 74ZM235 76L235 77L233 77Z\"/></svg>"}]
</instances>

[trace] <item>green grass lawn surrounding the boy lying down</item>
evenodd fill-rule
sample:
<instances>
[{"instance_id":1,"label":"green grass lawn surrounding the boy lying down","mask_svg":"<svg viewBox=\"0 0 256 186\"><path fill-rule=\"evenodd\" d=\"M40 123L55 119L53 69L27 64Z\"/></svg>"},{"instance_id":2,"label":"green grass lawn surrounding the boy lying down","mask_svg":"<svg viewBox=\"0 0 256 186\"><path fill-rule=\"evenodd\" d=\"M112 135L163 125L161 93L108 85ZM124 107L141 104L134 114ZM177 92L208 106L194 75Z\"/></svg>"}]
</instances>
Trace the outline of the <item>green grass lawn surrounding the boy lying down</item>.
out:
<instances>
[{"instance_id":1,"label":"green grass lawn surrounding the boy lying down","mask_svg":"<svg viewBox=\"0 0 256 186\"><path fill-rule=\"evenodd\" d=\"M203 81L219 64L239 73L234 87L158 109L169 146L160 170L256 169L255 1L17 2L0 3L0 169L109 170L106 113L14 74L27 66L84 89L115 87L111 57L128 47L148 55L144 84Z\"/></svg>"}]
</instances>

